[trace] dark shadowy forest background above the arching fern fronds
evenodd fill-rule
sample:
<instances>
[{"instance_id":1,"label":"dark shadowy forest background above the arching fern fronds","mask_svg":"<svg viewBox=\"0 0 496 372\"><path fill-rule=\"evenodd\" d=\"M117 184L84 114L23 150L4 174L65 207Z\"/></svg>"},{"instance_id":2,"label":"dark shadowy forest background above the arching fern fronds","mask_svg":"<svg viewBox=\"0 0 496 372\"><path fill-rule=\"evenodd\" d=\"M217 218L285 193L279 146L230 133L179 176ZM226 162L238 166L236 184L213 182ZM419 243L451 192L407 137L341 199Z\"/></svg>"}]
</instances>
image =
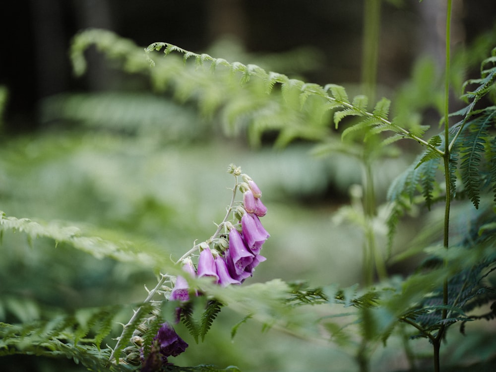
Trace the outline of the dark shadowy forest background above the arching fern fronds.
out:
<instances>
[{"instance_id":1,"label":"dark shadowy forest background above the arching fern fronds","mask_svg":"<svg viewBox=\"0 0 496 372\"><path fill-rule=\"evenodd\" d=\"M438 47L443 42L439 35L444 3L383 1L379 83L394 86L408 76L415 57L439 53L436 48L442 51ZM0 84L9 89L6 129L37 128L36 106L44 97L105 90L112 84L105 69L92 68L82 79L71 74L70 40L88 27L113 30L142 46L165 41L194 52L225 34L238 37L253 53L313 46L323 61L308 80L358 82L363 4L364 0L9 1L8 10L0 13ZM454 1L453 16L454 43L470 41L494 26L496 1ZM442 53L437 57L442 63Z\"/></svg>"}]
</instances>

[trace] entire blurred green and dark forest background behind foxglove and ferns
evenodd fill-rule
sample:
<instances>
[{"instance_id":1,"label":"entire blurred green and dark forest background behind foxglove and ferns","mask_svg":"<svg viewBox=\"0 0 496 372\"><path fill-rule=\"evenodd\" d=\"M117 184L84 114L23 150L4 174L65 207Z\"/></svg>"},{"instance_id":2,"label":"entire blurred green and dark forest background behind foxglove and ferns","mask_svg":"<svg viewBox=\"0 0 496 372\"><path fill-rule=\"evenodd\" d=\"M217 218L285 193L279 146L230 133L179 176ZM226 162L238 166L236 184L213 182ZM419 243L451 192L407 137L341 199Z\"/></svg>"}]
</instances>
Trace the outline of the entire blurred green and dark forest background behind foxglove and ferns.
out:
<instances>
[{"instance_id":1,"label":"entire blurred green and dark forest background behind foxglove and ferns","mask_svg":"<svg viewBox=\"0 0 496 372\"><path fill-rule=\"evenodd\" d=\"M442 34L435 25L444 12L442 3L384 1L379 52L380 95L392 99L396 115L419 116L435 129L443 63ZM494 1L457 3L455 88L477 71L496 41ZM239 99L222 107L225 95L237 87L218 86L215 78L202 81L193 74L189 91L167 89L153 84L157 80L144 70L131 71L133 64L106 59L95 49L85 54L86 73L76 78L69 46L77 31L101 27L141 50L165 41L309 82L343 84L359 93L362 11L361 0L12 3L11 13L3 16L23 21L21 27L0 33L5 46L0 56L0 210L47 224L62 221L109 240L141 242L145 251L178 258L196 239L207 239L214 222L222 220L230 198L227 187L232 186L225 170L235 163L260 186L269 210L264 221L271 234L264 249L267 261L249 283L273 278L307 279L311 285L360 282L362 236L354 226L336 225L332 219L349 202L349 187L361 182L357 162L343 154L316 157L314 138L274 148L277 133L269 130L256 143L257 133L247 130L249 120L238 114L262 118L260 132L264 123L273 124L276 116L257 106L260 87L239 90ZM134 57L136 66L148 63L144 52ZM170 63L183 68L181 58ZM202 88L211 89L199 95L208 102L195 101L195 89ZM294 120L293 114L288 111L288 120ZM319 120L322 130L332 134L329 118ZM410 146L401 148L403 156L377 167L379 201L418 151ZM407 219L400 226L396 252L406 248L417 224ZM146 265L97 259L19 232L2 234L0 249L0 321L139 302L143 285L156 282ZM389 269L405 274L412 267L407 261ZM128 317L123 314L122 321ZM231 327L239 320L238 314L223 310L198 345L178 330L190 349L174 362L222 368L235 364L242 371L302 371L309 361L312 371L356 369L345 348L262 331L255 321L241 325L231 340ZM491 350L481 348L492 345L486 336L467 337L473 341L464 345L491 356ZM388 348L379 347L372 370L405 369L401 344L393 339ZM429 351L424 341L412 345L417 353ZM446 348L443 353L461 360L470 351ZM2 358L2 366L3 371L82 370L72 362L26 356Z\"/></svg>"}]
</instances>

